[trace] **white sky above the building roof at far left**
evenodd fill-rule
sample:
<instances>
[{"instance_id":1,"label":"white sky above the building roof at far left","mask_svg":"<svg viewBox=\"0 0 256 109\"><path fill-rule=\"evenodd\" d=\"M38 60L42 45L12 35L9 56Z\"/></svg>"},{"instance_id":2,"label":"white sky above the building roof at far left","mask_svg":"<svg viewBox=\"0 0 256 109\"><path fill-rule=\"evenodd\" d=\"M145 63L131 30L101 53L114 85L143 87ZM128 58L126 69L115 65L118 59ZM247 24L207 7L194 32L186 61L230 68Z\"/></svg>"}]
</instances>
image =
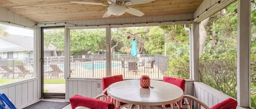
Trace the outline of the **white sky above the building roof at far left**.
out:
<instances>
[{"instance_id":1,"label":"white sky above the building roof at far left","mask_svg":"<svg viewBox=\"0 0 256 109\"><path fill-rule=\"evenodd\" d=\"M6 24L0 24L0 29L7 31L9 34L29 36L29 37L34 36L34 30L31 30L31 29L14 27Z\"/></svg>"}]
</instances>

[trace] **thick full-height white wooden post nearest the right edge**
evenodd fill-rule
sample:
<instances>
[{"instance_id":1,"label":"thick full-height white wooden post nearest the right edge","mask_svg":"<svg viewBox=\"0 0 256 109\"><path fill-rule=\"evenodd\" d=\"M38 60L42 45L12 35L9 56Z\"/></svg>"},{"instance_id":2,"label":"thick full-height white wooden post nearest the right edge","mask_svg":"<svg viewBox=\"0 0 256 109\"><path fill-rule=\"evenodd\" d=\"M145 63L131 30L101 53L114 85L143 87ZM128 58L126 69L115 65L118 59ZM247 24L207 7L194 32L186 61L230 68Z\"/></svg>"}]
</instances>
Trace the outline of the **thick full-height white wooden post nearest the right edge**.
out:
<instances>
[{"instance_id":1,"label":"thick full-height white wooden post nearest the right edge","mask_svg":"<svg viewBox=\"0 0 256 109\"><path fill-rule=\"evenodd\" d=\"M238 0L237 5L237 101L239 108L249 108L251 0Z\"/></svg>"}]
</instances>

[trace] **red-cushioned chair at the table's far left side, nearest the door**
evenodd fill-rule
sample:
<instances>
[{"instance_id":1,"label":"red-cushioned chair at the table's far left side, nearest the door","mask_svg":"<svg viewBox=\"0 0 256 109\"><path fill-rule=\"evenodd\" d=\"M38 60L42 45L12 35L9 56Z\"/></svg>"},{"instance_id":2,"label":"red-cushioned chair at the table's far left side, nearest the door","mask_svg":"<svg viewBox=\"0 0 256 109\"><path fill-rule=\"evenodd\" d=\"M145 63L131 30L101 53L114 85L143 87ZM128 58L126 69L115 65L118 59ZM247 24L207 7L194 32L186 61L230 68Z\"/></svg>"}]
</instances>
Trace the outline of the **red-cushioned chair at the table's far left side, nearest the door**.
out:
<instances>
[{"instance_id":1,"label":"red-cushioned chair at the table's far left side, nearest the door","mask_svg":"<svg viewBox=\"0 0 256 109\"><path fill-rule=\"evenodd\" d=\"M123 75L115 75L115 76L107 76L105 78L102 78L102 94L105 94L108 96L108 93L106 93L106 90L111 84L114 84L115 82L123 81ZM110 97L108 97L108 101L114 102ZM118 102L118 107L126 107L128 104L125 104L123 102Z\"/></svg>"}]
</instances>

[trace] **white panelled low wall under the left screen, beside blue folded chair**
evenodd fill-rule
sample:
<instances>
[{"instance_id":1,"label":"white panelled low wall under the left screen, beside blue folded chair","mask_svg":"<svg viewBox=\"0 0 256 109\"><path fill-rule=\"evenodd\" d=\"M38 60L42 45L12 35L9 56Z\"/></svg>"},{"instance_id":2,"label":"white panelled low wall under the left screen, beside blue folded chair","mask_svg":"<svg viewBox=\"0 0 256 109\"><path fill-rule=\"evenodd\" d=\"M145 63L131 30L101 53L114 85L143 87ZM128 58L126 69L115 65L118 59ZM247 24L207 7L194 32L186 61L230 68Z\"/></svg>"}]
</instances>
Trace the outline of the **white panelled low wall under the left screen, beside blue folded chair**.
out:
<instances>
[{"instance_id":1,"label":"white panelled low wall under the left screen, beside blue folded chair","mask_svg":"<svg viewBox=\"0 0 256 109\"><path fill-rule=\"evenodd\" d=\"M39 99L38 79L29 79L0 86L0 93L5 93L17 108L24 107Z\"/></svg>"}]
</instances>

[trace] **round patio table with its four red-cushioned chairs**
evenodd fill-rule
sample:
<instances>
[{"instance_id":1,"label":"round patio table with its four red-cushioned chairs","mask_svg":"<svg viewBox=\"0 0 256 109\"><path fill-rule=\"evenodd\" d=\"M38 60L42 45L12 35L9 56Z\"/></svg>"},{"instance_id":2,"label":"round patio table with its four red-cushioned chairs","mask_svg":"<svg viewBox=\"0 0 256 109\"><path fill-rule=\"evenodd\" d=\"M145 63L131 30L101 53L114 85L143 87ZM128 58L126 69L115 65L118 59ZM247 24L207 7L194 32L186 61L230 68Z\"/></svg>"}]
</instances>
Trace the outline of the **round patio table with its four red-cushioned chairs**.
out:
<instances>
[{"instance_id":1,"label":"round patio table with its four red-cushioned chairs","mask_svg":"<svg viewBox=\"0 0 256 109\"><path fill-rule=\"evenodd\" d=\"M102 94L94 99L74 95L69 100L72 109L119 109L123 107L172 109L186 107L191 109L195 106L192 101L198 103L198 108L206 109L235 109L237 106L236 100L228 98L209 107L195 97L183 95L185 82L184 79L164 76L163 81L152 80L151 87L142 88L139 80L123 80L122 75L108 76L102 78Z\"/></svg>"}]
</instances>

